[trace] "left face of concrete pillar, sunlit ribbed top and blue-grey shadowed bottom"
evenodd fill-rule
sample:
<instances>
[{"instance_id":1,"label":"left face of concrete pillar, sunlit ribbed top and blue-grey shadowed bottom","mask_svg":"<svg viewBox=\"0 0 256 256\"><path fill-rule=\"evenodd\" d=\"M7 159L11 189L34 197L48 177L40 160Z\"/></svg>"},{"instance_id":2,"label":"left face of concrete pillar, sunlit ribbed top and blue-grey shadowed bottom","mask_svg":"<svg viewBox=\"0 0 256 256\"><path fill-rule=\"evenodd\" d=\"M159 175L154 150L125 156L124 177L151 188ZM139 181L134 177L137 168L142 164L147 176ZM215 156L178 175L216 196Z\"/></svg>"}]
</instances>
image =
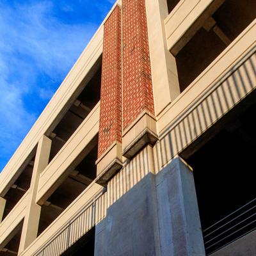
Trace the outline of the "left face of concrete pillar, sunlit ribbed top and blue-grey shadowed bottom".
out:
<instances>
[{"instance_id":1,"label":"left face of concrete pillar, sunlit ribbed top and blue-grey shadowed bottom","mask_svg":"<svg viewBox=\"0 0 256 256\"><path fill-rule=\"evenodd\" d=\"M160 255L152 148L108 183L106 218L95 227L95 256Z\"/></svg>"}]
</instances>

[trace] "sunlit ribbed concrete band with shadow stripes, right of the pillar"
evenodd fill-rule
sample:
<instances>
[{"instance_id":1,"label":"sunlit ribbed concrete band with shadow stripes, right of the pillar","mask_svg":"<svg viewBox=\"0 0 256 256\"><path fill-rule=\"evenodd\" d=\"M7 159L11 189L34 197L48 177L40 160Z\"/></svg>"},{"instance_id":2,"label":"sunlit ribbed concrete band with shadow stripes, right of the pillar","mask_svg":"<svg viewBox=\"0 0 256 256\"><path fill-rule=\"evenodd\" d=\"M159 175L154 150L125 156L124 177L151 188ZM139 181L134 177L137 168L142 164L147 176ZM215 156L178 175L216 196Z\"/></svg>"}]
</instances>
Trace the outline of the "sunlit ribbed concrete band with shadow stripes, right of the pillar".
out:
<instances>
[{"instance_id":1,"label":"sunlit ribbed concrete band with shadow stripes, right of the pillar","mask_svg":"<svg viewBox=\"0 0 256 256\"><path fill-rule=\"evenodd\" d=\"M253 49L235 67L219 79L216 87L175 125L161 140L162 164L166 164L181 150L225 115L256 88L256 54Z\"/></svg>"}]
</instances>

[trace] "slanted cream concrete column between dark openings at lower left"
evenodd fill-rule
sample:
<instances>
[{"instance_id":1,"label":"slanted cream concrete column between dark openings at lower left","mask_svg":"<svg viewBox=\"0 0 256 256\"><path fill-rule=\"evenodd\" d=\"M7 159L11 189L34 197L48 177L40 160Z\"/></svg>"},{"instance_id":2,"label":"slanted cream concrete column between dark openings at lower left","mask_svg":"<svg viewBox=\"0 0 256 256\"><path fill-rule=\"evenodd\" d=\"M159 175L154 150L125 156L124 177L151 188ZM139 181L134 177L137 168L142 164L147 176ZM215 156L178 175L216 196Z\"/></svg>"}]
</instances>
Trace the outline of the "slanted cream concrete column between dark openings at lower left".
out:
<instances>
[{"instance_id":1,"label":"slanted cream concrete column between dark openings at lower left","mask_svg":"<svg viewBox=\"0 0 256 256\"><path fill-rule=\"evenodd\" d=\"M36 193L40 173L49 163L51 142L52 141L46 136L42 136L40 141L38 141L35 164L31 178L28 211L24 218L18 255L20 255L20 253L23 252L37 237L41 207L40 205L36 204Z\"/></svg>"}]
</instances>

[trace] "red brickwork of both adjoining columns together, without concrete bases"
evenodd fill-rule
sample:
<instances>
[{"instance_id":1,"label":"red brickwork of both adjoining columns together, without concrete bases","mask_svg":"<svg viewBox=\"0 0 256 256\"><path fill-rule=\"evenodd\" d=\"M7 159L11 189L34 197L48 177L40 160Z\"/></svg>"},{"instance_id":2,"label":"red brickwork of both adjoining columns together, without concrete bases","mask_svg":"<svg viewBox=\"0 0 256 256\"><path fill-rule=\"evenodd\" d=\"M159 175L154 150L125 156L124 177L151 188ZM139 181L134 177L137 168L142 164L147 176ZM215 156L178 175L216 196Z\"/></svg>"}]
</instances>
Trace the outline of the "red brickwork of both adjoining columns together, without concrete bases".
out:
<instances>
[{"instance_id":1,"label":"red brickwork of both adjoining columns together, without concrete bases","mask_svg":"<svg viewBox=\"0 0 256 256\"><path fill-rule=\"evenodd\" d=\"M145 0L123 0L122 21L116 6L104 24L98 158L145 110L154 114Z\"/></svg>"}]
</instances>

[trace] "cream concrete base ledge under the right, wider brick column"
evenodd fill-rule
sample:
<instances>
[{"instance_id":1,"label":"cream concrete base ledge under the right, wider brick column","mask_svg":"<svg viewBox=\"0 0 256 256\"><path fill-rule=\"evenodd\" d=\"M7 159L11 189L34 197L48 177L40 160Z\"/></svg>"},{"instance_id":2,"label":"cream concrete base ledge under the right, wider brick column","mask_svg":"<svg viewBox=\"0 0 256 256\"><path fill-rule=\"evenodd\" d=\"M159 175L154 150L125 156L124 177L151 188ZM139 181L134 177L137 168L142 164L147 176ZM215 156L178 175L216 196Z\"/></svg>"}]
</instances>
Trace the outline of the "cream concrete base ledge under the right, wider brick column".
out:
<instances>
[{"instance_id":1,"label":"cream concrete base ledge under the right, wider brick column","mask_svg":"<svg viewBox=\"0 0 256 256\"><path fill-rule=\"evenodd\" d=\"M123 156L131 159L145 145L154 145L157 140L156 119L144 111L123 133Z\"/></svg>"}]
</instances>

